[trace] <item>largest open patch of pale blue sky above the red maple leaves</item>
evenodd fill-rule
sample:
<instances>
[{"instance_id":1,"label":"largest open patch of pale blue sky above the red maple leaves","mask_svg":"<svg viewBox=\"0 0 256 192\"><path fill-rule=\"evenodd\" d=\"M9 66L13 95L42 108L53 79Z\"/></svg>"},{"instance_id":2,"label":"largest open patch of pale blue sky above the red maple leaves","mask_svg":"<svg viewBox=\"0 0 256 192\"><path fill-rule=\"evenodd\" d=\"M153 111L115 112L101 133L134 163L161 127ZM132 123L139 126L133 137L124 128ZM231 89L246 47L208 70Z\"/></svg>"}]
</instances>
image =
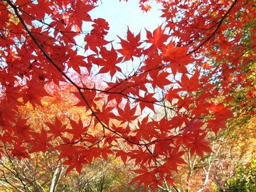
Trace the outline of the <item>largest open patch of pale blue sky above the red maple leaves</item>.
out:
<instances>
[{"instance_id":1,"label":"largest open patch of pale blue sky above the red maple leaves","mask_svg":"<svg viewBox=\"0 0 256 192\"><path fill-rule=\"evenodd\" d=\"M161 16L161 6L154 1L151 3L152 9L147 13L139 7L139 0L121 1L102 0L100 5L90 11L92 18L105 18L110 25L110 31L107 35L107 41L117 39L117 36L125 38L127 26L132 33L137 34L142 31L142 38L146 37L146 28L149 31L154 30L161 25L163 19Z\"/></svg>"}]
</instances>

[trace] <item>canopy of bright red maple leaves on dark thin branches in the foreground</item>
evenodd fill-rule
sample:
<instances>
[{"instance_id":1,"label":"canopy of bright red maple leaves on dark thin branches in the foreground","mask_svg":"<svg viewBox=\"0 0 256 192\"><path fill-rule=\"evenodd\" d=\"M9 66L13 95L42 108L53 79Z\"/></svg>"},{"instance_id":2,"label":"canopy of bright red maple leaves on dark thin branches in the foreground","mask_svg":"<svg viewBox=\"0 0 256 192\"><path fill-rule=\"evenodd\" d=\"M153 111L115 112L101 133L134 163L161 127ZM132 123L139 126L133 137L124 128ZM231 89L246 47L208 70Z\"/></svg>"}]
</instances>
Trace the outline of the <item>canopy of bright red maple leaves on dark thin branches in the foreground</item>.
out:
<instances>
[{"instance_id":1,"label":"canopy of bright red maple leaves on dark thin branches in the foreground","mask_svg":"<svg viewBox=\"0 0 256 192\"><path fill-rule=\"evenodd\" d=\"M66 175L111 155L144 189L175 188L184 154L214 152L235 106L255 114L255 2L159 0L165 22L145 38L128 26L118 46L98 3L0 1L0 154L55 151Z\"/></svg>"}]
</instances>

